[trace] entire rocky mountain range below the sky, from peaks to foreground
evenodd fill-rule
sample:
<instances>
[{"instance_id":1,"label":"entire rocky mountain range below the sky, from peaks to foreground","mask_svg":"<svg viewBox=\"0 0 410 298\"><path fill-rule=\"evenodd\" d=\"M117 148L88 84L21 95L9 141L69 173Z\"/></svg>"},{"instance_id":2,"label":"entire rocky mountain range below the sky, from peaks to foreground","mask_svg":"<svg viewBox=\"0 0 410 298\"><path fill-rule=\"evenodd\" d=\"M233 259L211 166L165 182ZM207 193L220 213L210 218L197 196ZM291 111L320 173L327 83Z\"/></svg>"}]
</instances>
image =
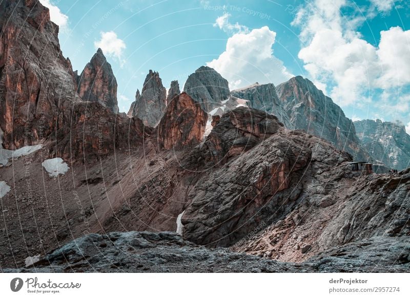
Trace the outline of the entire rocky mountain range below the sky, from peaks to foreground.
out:
<instances>
[{"instance_id":1,"label":"entire rocky mountain range below the sky, from peaks to foreground","mask_svg":"<svg viewBox=\"0 0 410 298\"><path fill-rule=\"evenodd\" d=\"M410 269L401 124L353 122L300 76L231 91L206 66L168 94L150 70L125 115L103 51L78 75L46 7L3 1L6 19L4 272Z\"/></svg>"}]
</instances>

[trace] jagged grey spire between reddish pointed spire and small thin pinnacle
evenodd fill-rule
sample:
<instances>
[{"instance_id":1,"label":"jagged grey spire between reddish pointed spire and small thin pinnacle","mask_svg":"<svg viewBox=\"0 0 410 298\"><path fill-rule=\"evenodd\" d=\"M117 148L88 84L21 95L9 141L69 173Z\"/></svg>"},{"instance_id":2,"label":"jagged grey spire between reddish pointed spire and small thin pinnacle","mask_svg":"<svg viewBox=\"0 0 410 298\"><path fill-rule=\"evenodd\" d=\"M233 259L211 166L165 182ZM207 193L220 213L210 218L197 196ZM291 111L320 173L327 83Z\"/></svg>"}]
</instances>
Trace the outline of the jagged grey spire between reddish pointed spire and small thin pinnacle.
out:
<instances>
[{"instance_id":1,"label":"jagged grey spire between reddish pointed spire and small thin pinnacle","mask_svg":"<svg viewBox=\"0 0 410 298\"><path fill-rule=\"evenodd\" d=\"M145 78L142 92L135 95L135 102L128 111L129 117L138 117L145 125L155 127L162 118L167 105L167 91L162 86L159 73L150 70Z\"/></svg>"}]
</instances>

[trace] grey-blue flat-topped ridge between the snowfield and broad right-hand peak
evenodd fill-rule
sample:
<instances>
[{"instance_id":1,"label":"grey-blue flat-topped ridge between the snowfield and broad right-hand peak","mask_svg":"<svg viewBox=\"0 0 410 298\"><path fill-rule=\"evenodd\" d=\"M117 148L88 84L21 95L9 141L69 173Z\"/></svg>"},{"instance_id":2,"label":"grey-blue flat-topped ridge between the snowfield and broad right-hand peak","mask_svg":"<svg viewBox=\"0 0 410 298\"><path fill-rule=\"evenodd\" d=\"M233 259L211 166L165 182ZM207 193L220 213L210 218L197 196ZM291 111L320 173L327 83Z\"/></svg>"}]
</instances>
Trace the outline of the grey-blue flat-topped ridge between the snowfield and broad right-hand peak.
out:
<instances>
[{"instance_id":1,"label":"grey-blue flat-topped ridge between the snowfield and broad right-hand peak","mask_svg":"<svg viewBox=\"0 0 410 298\"><path fill-rule=\"evenodd\" d=\"M231 95L247 100L248 107L275 115L288 129L293 129L288 114L282 107L274 84L258 84L231 91Z\"/></svg>"}]
</instances>

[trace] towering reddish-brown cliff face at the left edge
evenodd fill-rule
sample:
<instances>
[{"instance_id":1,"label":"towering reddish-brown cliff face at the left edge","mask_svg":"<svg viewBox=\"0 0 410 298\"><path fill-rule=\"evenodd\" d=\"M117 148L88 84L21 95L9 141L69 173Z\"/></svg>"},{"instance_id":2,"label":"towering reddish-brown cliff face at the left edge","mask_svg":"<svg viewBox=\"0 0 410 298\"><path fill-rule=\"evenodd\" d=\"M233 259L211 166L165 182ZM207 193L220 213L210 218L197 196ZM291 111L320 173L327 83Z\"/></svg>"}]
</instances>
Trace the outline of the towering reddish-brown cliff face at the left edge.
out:
<instances>
[{"instance_id":1,"label":"towering reddish-brown cliff face at the left edge","mask_svg":"<svg viewBox=\"0 0 410 298\"><path fill-rule=\"evenodd\" d=\"M0 19L7 20L0 23L0 128L3 146L15 149L51 134L57 111L73 104L76 87L48 8L38 1L2 1Z\"/></svg>"}]
</instances>

